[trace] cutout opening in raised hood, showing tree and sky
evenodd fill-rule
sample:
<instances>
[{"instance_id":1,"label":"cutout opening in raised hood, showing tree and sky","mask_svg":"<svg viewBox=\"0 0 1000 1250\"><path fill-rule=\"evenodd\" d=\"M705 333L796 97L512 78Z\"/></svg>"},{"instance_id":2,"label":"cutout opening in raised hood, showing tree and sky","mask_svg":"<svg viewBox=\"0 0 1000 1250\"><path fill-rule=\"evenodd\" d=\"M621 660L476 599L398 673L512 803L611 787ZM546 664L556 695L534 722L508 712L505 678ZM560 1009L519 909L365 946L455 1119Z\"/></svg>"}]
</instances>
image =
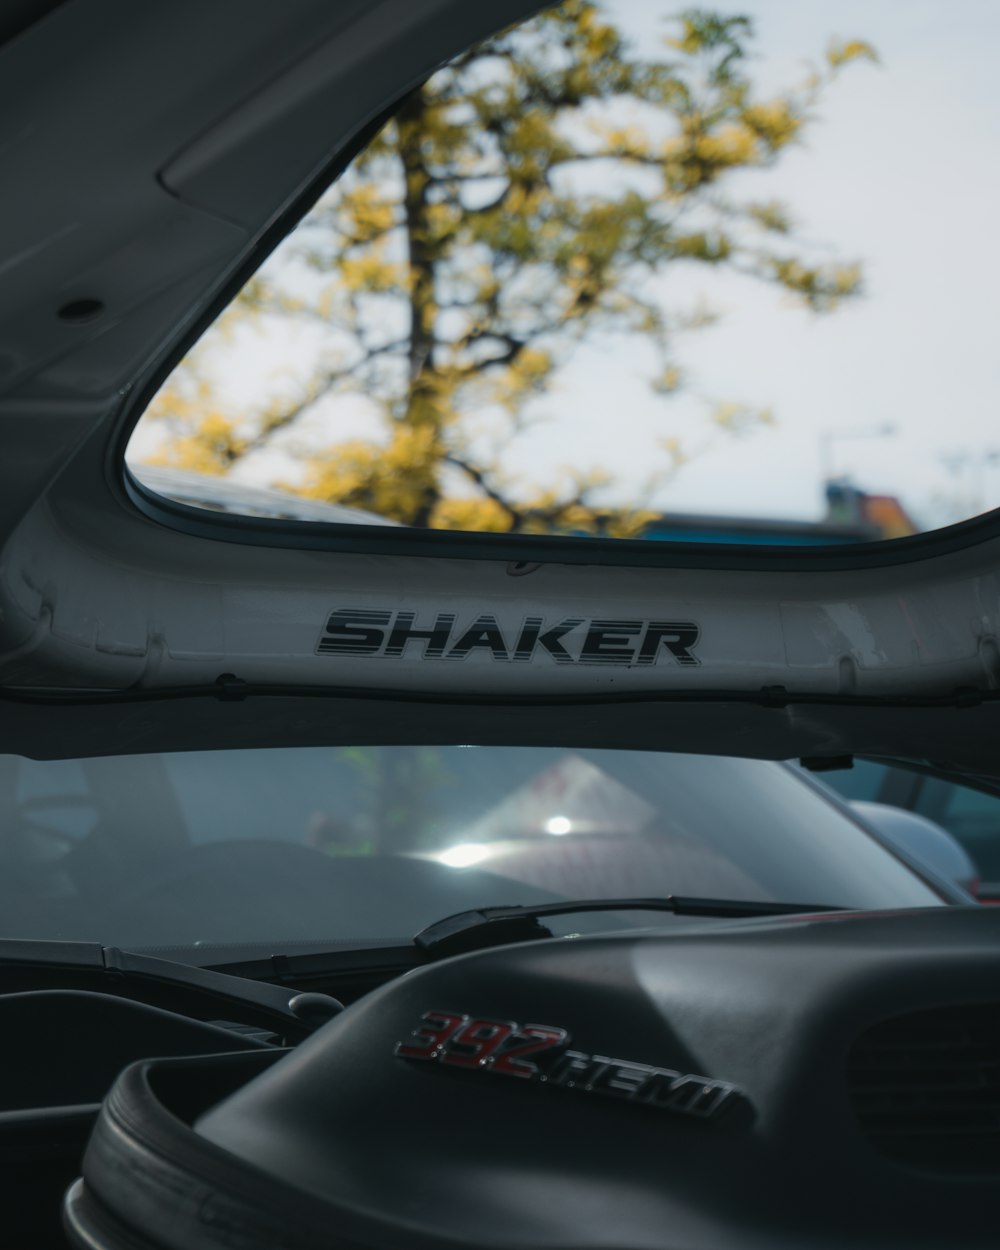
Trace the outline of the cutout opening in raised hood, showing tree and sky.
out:
<instances>
[{"instance_id":1,"label":"cutout opening in raised hood, showing tree and sky","mask_svg":"<svg viewBox=\"0 0 1000 1250\"><path fill-rule=\"evenodd\" d=\"M129 462L341 524L830 544L980 512L998 34L979 0L546 9L408 95Z\"/></svg>"}]
</instances>

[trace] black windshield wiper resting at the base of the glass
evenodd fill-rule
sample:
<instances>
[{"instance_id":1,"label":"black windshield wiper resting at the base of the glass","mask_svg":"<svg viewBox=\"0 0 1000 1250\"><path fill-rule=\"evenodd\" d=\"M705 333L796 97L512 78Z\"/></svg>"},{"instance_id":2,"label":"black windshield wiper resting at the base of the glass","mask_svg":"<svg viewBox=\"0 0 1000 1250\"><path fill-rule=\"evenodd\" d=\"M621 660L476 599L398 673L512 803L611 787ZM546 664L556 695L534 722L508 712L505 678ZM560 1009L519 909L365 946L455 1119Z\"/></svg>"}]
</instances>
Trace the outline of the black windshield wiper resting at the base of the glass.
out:
<instances>
[{"instance_id":1,"label":"black windshield wiper resting at the base of the glass","mask_svg":"<svg viewBox=\"0 0 1000 1250\"><path fill-rule=\"evenodd\" d=\"M414 938L414 945L431 958L445 958L468 950L481 950L485 946L551 938L552 931L539 922L540 918L566 916L576 911L670 911L676 916L715 916L735 920L842 910L844 908L830 904L696 899L678 894L668 894L659 899L565 899L560 902L459 911L421 929Z\"/></svg>"}]
</instances>

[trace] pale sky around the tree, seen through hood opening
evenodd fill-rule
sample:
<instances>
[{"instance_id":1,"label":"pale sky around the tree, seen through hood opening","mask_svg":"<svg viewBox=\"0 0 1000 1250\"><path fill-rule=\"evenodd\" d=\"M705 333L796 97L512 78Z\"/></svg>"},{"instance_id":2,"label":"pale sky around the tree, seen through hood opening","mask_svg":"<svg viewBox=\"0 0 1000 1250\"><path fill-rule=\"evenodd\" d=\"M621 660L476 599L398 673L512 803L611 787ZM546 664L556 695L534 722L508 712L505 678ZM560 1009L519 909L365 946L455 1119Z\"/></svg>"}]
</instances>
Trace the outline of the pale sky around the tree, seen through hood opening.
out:
<instances>
[{"instance_id":1,"label":"pale sky around the tree, seen through hood opening","mask_svg":"<svg viewBox=\"0 0 1000 1250\"><path fill-rule=\"evenodd\" d=\"M605 8L650 50L676 11L655 0ZM746 279L671 265L660 280L666 306L704 298L722 312L678 341L689 392L655 396L641 346L591 340L535 404L538 424L510 445L506 466L551 475L571 432L575 461L610 471L609 501L628 502L646 479L650 445L679 434L695 454L656 496L669 510L816 519L831 474L898 495L928 528L1000 502L1000 0L719 8L752 16L762 88L799 82L834 36L876 48L880 64L844 70L778 169L730 186L785 201L798 234L830 260L860 260L865 295L815 315ZM249 402L262 370L294 375L308 350L301 336L249 345L234 364L232 396ZM775 425L712 436L710 400L768 406ZM365 425L360 408L355 424ZM309 428L299 436L308 440ZM142 454L154 435L140 426L136 440ZM266 481L294 464L278 454L240 471Z\"/></svg>"}]
</instances>

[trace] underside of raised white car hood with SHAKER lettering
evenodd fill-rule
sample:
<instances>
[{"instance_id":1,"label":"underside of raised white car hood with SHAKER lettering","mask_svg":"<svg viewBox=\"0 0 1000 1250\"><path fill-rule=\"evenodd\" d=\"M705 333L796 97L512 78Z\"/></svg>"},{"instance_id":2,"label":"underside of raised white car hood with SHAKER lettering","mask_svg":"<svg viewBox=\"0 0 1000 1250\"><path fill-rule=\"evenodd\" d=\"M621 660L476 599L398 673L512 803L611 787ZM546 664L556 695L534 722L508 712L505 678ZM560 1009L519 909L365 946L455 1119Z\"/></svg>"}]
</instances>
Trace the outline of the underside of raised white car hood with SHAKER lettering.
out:
<instances>
[{"instance_id":1,"label":"underside of raised white car hood with SHAKER lettering","mask_svg":"<svg viewBox=\"0 0 1000 1250\"><path fill-rule=\"evenodd\" d=\"M126 480L145 400L359 136L532 8L218 0L180 24L68 0L0 48L0 750L518 741L1000 775L998 514L706 549L206 516ZM95 292L101 316L60 319Z\"/></svg>"}]
</instances>

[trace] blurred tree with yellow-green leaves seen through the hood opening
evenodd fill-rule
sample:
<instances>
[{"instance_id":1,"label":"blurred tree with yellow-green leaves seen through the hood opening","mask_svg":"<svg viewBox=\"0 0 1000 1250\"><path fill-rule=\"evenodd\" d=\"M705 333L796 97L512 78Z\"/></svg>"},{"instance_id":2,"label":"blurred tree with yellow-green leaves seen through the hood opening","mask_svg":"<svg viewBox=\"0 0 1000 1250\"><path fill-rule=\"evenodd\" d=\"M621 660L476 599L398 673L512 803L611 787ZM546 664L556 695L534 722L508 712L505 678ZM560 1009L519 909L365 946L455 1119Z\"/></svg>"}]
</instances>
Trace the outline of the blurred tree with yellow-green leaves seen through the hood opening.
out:
<instances>
[{"instance_id":1,"label":"blurred tree with yellow-green leaves seen through the hood opening","mask_svg":"<svg viewBox=\"0 0 1000 1250\"><path fill-rule=\"evenodd\" d=\"M598 4L568 0L459 56L404 101L222 319L230 334L248 320L321 324L315 371L291 399L232 415L202 349L151 409L170 430L159 462L226 472L356 392L378 405L381 435L301 449L305 478L290 489L410 525L592 528L601 474L578 470L558 489L510 481L475 415L502 414L516 435L530 400L598 331L650 342L652 385L676 391L676 335L706 318L650 294L675 261L774 284L818 312L861 290L859 265L810 259L784 205L728 192L734 174L774 166L801 138L844 65L875 54L834 44L799 88L760 98L752 39L745 16L691 10L668 55L646 59ZM740 431L769 414L722 404L711 418ZM685 449L664 436L660 454L651 486ZM619 510L610 529L644 520Z\"/></svg>"}]
</instances>

